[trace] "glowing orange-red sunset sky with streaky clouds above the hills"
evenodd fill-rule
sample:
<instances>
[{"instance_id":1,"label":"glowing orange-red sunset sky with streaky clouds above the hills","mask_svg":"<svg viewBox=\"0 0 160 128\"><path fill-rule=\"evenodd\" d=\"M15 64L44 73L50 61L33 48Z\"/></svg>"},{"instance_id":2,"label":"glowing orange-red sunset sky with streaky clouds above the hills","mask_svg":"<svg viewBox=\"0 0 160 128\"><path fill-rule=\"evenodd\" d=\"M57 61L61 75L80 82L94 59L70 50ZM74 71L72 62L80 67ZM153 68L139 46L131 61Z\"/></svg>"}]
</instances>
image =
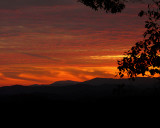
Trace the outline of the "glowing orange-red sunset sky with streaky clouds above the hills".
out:
<instances>
[{"instance_id":1,"label":"glowing orange-red sunset sky with streaky clouds above the hills","mask_svg":"<svg viewBox=\"0 0 160 128\"><path fill-rule=\"evenodd\" d=\"M1 0L0 86L115 78L117 60L143 39L142 8L106 14L77 0Z\"/></svg>"}]
</instances>

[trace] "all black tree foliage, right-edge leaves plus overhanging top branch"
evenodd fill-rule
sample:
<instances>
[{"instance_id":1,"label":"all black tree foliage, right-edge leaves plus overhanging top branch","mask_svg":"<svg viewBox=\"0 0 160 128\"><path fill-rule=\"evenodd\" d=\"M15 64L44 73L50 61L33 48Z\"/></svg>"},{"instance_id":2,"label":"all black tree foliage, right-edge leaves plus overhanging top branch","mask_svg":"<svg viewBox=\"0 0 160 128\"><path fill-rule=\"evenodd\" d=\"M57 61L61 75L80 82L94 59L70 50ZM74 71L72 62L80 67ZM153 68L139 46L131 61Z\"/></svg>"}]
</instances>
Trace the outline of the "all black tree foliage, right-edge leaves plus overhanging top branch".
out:
<instances>
[{"instance_id":1,"label":"all black tree foliage, right-edge leaves plus overhanging top branch","mask_svg":"<svg viewBox=\"0 0 160 128\"><path fill-rule=\"evenodd\" d=\"M125 8L125 2L138 2L143 0L78 0L94 10L102 9L106 13L118 13ZM139 16L147 16L143 34L144 40L139 41L128 52L125 57L118 61L118 75L123 77L125 73L130 78L137 75L160 74L160 0L150 0L148 11L141 11ZM149 0L148 0L149 2Z\"/></svg>"}]
</instances>

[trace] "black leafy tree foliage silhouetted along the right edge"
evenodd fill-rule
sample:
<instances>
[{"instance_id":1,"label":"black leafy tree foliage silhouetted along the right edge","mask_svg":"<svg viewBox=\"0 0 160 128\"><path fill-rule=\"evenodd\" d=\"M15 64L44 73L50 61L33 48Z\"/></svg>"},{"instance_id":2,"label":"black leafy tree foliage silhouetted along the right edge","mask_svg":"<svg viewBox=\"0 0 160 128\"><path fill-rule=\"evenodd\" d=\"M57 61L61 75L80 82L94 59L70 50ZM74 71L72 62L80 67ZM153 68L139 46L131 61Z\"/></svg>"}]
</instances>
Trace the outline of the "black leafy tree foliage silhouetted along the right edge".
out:
<instances>
[{"instance_id":1,"label":"black leafy tree foliage silhouetted along the right edge","mask_svg":"<svg viewBox=\"0 0 160 128\"><path fill-rule=\"evenodd\" d=\"M128 52L125 57L118 61L119 76L123 77L127 72L130 78L137 75L153 76L160 74L160 1L153 1L148 5L148 11L141 11L139 16L147 16L143 34L144 40L139 41ZM148 73L147 73L148 72Z\"/></svg>"}]
</instances>

